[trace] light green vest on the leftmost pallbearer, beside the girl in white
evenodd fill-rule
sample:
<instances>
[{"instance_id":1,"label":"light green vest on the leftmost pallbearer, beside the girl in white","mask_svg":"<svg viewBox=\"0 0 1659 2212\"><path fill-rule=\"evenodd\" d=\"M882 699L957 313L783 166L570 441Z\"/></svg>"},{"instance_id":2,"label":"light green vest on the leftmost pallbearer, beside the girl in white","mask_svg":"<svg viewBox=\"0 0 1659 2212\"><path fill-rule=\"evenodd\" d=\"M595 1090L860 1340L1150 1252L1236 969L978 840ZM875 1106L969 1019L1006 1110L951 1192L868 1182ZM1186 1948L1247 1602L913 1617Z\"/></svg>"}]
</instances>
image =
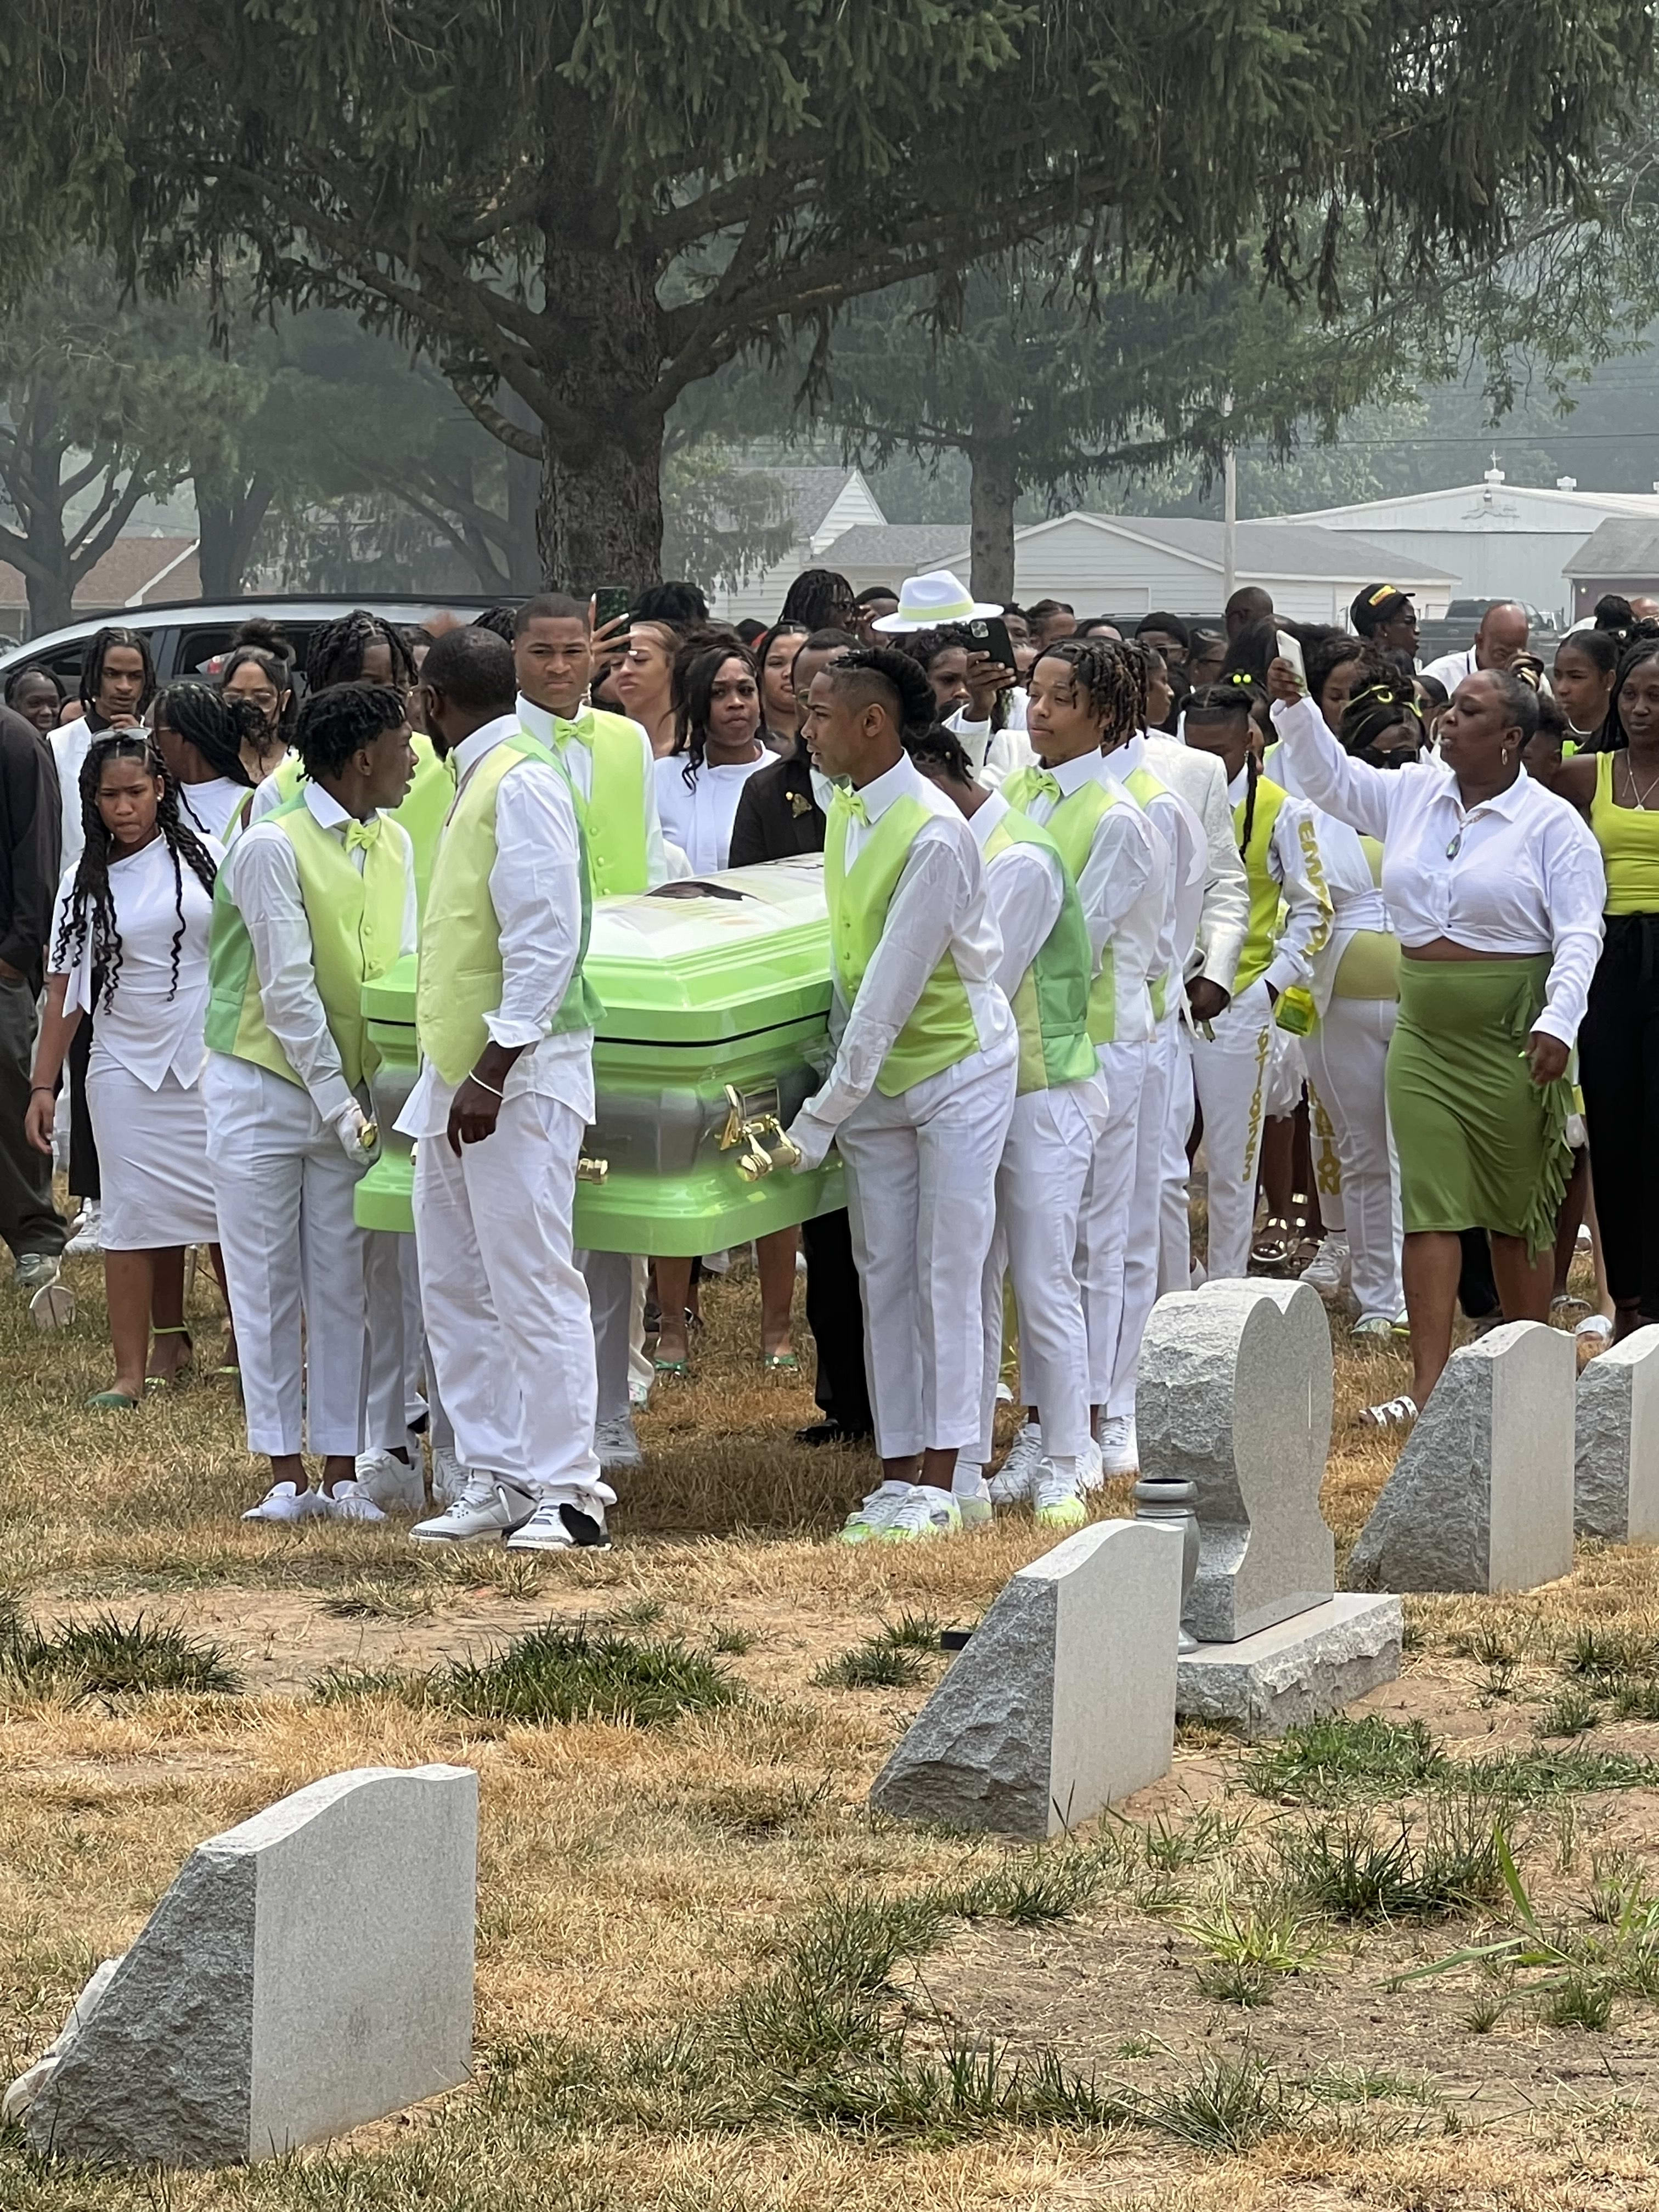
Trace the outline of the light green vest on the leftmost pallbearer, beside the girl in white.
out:
<instances>
[{"instance_id":1,"label":"light green vest on the leftmost pallbearer, beside the girl in white","mask_svg":"<svg viewBox=\"0 0 1659 2212\"><path fill-rule=\"evenodd\" d=\"M383 818L378 836L363 852L358 876L341 838L323 830L303 796L285 799L265 821L294 847L299 896L312 931L316 995L345 1079L356 1091L380 1062L363 1022L363 984L385 975L403 953L409 838ZM221 869L212 894L206 1042L215 1053L252 1060L296 1084L299 1075L265 1026L252 938L228 889L232 876L234 867Z\"/></svg>"}]
</instances>

